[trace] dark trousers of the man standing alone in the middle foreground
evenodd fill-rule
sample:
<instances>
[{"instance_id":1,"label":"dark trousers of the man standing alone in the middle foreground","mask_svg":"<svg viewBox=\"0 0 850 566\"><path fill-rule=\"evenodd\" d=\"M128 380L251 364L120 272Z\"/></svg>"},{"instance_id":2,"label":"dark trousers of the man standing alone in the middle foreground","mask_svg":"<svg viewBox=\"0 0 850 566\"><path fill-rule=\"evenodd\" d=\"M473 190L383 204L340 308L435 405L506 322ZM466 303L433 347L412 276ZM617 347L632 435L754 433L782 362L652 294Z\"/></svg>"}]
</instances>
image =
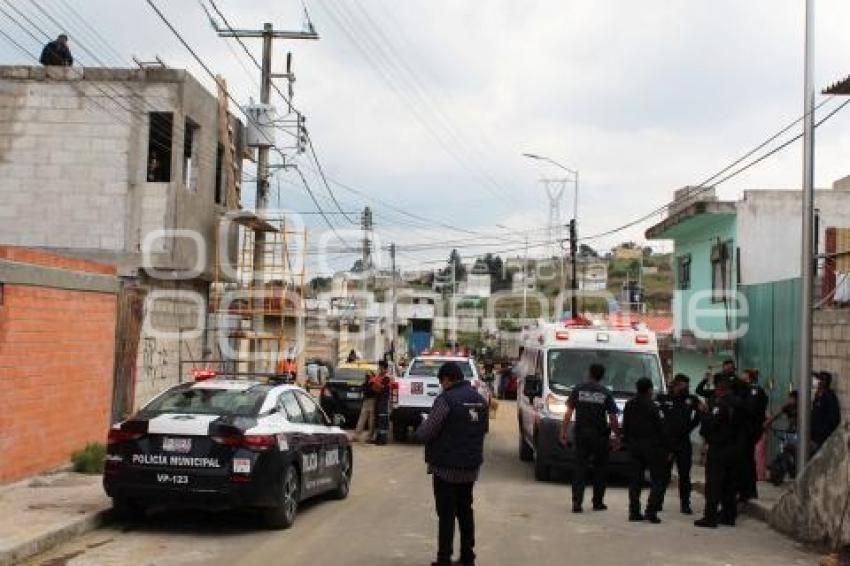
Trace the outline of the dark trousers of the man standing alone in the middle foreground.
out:
<instances>
[{"instance_id":1,"label":"dark trousers of the man standing alone in the middle foreground","mask_svg":"<svg viewBox=\"0 0 850 566\"><path fill-rule=\"evenodd\" d=\"M455 519L460 527L460 561L475 562L475 520L472 512L473 483L449 483L434 476L434 502L439 519L437 562L450 564L454 550Z\"/></svg>"}]
</instances>

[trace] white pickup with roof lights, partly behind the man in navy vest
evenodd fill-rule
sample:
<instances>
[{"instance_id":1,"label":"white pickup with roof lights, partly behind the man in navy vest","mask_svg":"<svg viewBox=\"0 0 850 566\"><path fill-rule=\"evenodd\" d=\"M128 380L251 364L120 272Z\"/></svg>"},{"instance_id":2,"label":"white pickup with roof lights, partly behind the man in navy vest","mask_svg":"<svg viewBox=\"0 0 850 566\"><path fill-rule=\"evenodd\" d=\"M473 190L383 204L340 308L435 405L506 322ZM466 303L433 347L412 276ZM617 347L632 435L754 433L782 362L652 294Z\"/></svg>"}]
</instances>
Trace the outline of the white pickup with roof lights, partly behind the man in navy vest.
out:
<instances>
[{"instance_id":1,"label":"white pickup with roof lights, partly behind the man in navy vest","mask_svg":"<svg viewBox=\"0 0 850 566\"><path fill-rule=\"evenodd\" d=\"M458 364L464 378L489 403L490 390L479 376L475 361L470 356L452 351L426 350L413 358L404 375L393 382L390 420L396 441L405 440L408 429L418 427L422 423L422 416L431 412L434 399L440 394L437 372L446 362Z\"/></svg>"}]
</instances>

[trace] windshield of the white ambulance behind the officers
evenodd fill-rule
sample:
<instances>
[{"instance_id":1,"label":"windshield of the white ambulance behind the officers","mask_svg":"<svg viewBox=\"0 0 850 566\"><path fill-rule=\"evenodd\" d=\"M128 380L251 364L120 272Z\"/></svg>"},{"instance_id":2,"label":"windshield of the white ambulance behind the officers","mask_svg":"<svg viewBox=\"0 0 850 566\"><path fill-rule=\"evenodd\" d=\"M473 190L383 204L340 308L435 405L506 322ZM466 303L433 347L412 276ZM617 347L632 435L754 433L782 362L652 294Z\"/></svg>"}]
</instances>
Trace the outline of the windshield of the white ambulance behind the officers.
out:
<instances>
[{"instance_id":1,"label":"windshield of the white ambulance behind the officers","mask_svg":"<svg viewBox=\"0 0 850 566\"><path fill-rule=\"evenodd\" d=\"M641 377L650 378L656 390L661 387L661 368L653 354L567 349L549 351L549 387L567 393L585 380L591 364L605 368L602 384L614 393L633 395L635 382Z\"/></svg>"}]
</instances>

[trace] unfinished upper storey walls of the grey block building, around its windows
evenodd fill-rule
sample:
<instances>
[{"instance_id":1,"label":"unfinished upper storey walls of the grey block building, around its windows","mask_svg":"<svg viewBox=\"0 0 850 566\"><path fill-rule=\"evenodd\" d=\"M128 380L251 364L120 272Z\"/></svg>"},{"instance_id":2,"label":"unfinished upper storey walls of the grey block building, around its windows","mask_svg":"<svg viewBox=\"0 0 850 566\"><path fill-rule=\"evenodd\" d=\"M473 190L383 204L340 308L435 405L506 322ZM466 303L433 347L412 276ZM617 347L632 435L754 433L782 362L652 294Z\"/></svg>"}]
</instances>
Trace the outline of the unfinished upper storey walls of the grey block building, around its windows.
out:
<instances>
[{"instance_id":1,"label":"unfinished upper storey walls of the grey block building, around its windows","mask_svg":"<svg viewBox=\"0 0 850 566\"><path fill-rule=\"evenodd\" d=\"M147 181L150 112L173 113L171 182ZM186 120L198 127L192 187ZM216 97L185 71L0 66L0 244L138 254L151 232L192 230L209 277L225 210L217 143ZM189 238L159 238L151 251L157 268L197 263Z\"/></svg>"}]
</instances>

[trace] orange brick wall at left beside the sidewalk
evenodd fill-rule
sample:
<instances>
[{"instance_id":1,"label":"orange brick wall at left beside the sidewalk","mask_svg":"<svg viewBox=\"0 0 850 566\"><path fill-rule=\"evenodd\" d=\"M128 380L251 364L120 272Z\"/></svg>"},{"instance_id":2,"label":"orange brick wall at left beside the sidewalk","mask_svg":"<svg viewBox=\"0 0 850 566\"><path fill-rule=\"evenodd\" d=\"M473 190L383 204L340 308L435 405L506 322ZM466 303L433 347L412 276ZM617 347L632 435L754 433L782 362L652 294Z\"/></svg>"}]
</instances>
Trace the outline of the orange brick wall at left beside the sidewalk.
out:
<instances>
[{"instance_id":1,"label":"orange brick wall at left beside the sidewalk","mask_svg":"<svg viewBox=\"0 0 850 566\"><path fill-rule=\"evenodd\" d=\"M115 271L93 262L0 248L0 267L9 260L67 273L108 276ZM115 317L113 293L4 283L0 482L56 468L87 442L104 441L112 399Z\"/></svg>"}]
</instances>

